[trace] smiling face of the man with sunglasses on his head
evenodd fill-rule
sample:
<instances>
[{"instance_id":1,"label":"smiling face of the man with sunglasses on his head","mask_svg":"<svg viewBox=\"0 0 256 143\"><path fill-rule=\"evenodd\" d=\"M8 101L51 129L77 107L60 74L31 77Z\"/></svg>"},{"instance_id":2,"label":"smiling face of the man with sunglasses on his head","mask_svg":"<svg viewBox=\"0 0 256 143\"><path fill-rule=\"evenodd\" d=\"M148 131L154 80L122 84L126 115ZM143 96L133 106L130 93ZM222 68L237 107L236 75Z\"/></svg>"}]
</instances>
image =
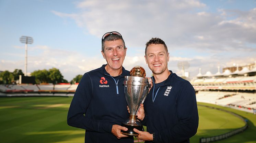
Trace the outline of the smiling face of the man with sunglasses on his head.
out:
<instances>
[{"instance_id":1,"label":"smiling face of the man with sunglasses on his head","mask_svg":"<svg viewBox=\"0 0 256 143\"><path fill-rule=\"evenodd\" d=\"M115 76L122 72L122 65L125 60L127 48L124 47L121 39L115 41L105 41L104 52L101 51L104 59L107 61L106 71ZM116 75L117 76L117 75Z\"/></svg>"}]
</instances>

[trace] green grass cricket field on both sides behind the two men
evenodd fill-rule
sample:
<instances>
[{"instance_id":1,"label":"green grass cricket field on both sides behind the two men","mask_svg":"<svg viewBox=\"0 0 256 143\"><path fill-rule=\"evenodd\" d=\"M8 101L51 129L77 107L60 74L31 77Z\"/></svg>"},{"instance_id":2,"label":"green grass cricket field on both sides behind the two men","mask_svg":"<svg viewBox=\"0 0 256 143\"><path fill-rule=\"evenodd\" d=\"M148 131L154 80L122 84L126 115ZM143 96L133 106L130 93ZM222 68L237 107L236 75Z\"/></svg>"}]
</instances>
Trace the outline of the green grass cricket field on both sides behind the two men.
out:
<instances>
[{"instance_id":1,"label":"green grass cricket field on both sides behind the two men","mask_svg":"<svg viewBox=\"0 0 256 143\"><path fill-rule=\"evenodd\" d=\"M72 97L0 98L0 142L3 143L81 143L84 130L67 125ZM248 119L244 132L216 143L256 143L256 115L222 106L198 103L228 110ZM244 126L241 119L224 111L198 106L199 128L190 139L218 135Z\"/></svg>"}]
</instances>

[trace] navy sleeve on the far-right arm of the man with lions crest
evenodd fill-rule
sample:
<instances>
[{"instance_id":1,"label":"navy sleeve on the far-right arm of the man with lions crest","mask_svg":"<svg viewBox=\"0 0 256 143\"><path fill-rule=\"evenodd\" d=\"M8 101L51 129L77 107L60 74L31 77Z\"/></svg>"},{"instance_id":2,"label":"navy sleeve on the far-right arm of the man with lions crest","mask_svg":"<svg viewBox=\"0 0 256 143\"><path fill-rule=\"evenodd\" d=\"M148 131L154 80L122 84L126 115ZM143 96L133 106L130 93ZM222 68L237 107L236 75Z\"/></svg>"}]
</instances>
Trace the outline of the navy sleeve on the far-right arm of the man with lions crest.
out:
<instances>
[{"instance_id":1,"label":"navy sleeve on the far-right arm of the man with lions crest","mask_svg":"<svg viewBox=\"0 0 256 143\"><path fill-rule=\"evenodd\" d=\"M185 83L176 98L178 123L172 128L155 133L154 142L182 142L196 134L198 128L198 110L193 86Z\"/></svg>"}]
</instances>

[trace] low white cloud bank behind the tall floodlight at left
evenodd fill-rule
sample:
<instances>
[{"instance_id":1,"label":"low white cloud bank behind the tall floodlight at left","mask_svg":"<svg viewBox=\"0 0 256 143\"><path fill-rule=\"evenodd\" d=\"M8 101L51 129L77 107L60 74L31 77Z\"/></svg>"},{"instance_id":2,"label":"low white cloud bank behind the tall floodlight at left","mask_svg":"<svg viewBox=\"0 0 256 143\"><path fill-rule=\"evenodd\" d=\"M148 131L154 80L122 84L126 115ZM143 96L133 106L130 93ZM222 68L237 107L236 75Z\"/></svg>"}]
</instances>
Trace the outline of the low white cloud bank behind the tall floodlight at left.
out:
<instances>
[{"instance_id":1,"label":"low white cloud bank behind the tall floodlight at left","mask_svg":"<svg viewBox=\"0 0 256 143\"><path fill-rule=\"evenodd\" d=\"M79 52L53 49L45 45L37 45L31 47L31 49L33 51L30 51L31 54L28 54L28 72L58 68L68 81L78 74L84 74L106 63L102 57L84 57ZM9 55L13 56L12 53L9 53ZM22 53L21 56L22 58L16 61L1 60L0 70L9 70L12 72L14 69L22 69L24 72L24 54Z\"/></svg>"}]
</instances>

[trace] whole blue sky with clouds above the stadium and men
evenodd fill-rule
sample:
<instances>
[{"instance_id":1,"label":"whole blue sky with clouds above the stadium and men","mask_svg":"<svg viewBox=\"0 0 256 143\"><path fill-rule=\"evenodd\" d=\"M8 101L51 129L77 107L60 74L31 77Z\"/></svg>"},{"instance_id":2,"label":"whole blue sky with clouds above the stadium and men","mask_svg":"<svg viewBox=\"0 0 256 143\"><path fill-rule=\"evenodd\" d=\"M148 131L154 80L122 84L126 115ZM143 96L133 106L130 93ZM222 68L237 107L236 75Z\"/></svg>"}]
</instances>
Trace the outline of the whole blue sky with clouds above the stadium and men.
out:
<instances>
[{"instance_id":1,"label":"whole blue sky with clouds above the stadium and men","mask_svg":"<svg viewBox=\"0 0 256 143\"><path fill-rule=\"evenodd\" d=\"M256 0L0 0L0 71L27 72L57 68L71 81L76 75L106 64L102 35L122 34L127 47L124 68L142 66L145 44L165 41L168 69L189 76L212 74L235 64L256 61ZM222 70L221 70L222 72Z\"/></svg>"}]
</instances>

